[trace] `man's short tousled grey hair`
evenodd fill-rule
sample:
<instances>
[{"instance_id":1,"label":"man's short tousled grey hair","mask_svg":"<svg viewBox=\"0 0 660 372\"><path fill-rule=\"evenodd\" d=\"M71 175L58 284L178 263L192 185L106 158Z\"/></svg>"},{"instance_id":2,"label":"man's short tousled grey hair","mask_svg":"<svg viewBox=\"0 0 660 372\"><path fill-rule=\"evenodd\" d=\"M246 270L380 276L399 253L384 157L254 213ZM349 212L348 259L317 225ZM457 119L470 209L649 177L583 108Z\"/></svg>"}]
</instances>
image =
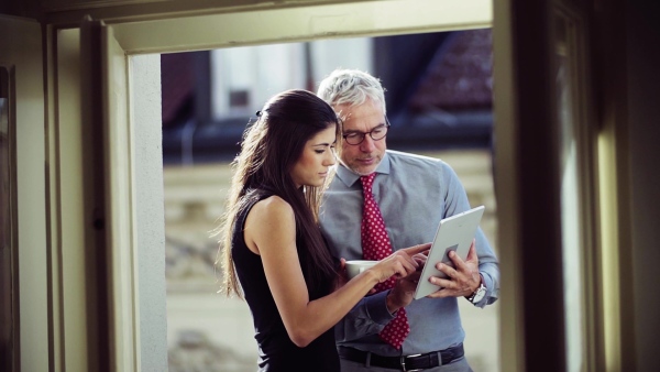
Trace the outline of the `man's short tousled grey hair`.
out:
<instances>
[{"instance_id":1,"label":"man's short tousled grey hair","mask_svg":"<svg viewBox=\"0 0 660 372\"><path fill-rule=\"evenodd\" d=\"M369 99L385 108L385 89L381 80L358 69L336 69L321 80L317 92L328 105L360 106Z\"/></svg>"}]
</instances>

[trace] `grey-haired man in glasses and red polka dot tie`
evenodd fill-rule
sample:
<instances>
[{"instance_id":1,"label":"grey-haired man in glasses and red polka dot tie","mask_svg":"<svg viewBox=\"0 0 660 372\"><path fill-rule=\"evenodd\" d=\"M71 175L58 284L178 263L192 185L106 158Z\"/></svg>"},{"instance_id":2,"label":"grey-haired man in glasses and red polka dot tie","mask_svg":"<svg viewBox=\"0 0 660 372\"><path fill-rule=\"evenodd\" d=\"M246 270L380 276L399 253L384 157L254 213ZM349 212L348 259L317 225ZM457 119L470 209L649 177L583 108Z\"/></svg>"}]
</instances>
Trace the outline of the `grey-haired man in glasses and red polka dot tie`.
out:
<instances>
[{"instance_id":1,"label":"grey-haired man in glasses and red polka dot tie","mask_svg":"<svg viewBox=\"0 0 660 372\"><path fill-rule=\"evenodd\" d=\"M374 250L387 253L431 241L442 218L470 209L447 163L386 150L389 122L377 78L336 70L321 81L318 96L343 120L340 164L320 212L333 254L378 259ZM369 211L364 217L363 210ZM374 242L373 236L381 232L388 239ZM337 325L342 371L471 371L458 302L479 307L494 303L499 269L481 229L465 261L450 258L455 270L427 262L450 276L432 278L442 289L413 300L415 278L393 280L389 288L376 287L381 292L362 299Z\"/></svg>"}]
</instances>

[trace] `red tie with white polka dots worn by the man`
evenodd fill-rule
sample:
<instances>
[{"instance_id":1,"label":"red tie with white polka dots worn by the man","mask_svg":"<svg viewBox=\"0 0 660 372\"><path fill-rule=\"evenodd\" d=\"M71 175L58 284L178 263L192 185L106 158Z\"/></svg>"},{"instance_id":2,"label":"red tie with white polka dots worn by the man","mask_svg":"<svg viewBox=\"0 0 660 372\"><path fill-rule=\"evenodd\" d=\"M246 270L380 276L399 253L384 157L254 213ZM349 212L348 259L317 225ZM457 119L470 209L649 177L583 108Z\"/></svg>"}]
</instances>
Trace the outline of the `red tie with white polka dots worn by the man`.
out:
<instances>
[{"instance_id":1,"label":"red tie with white polka dots worn by the man","mask_svg":"<svg viewBox=\"0 0 660 372\"><path fill-rule=\"evenodd\" d=\"M362 192L364 193L364 209L362 210L362 255L364 260L383 260L392 254L392 243L385 230L385 222L381 209L374 199L372 184L376 174L362 176ZM392 276L383 283L378 283L375 288L377 292L389 289L396 283ZM406 309L400 308L396 318L392 319L381 331L380 336L387 343L396 349L400 349L406 336L410 333Z\"/></svg>"}]
</instances>

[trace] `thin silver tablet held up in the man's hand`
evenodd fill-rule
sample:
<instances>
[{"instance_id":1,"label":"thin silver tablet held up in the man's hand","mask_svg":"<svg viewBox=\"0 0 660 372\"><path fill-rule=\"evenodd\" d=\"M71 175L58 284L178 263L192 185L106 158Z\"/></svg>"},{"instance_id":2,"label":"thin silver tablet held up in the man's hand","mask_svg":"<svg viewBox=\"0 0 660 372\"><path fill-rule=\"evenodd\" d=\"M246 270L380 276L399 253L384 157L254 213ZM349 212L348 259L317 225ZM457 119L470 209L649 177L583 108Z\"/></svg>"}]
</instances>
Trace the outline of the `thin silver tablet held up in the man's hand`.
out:
<instances>
[{"instance_id":1,"label":"thin silver tablet held up in the man's hand","mask_svg":"<svg viewBox=\"0 0 660 372\"><path fill-rule=\"evenodd\" d=\"M484 206L480 206L440 221L427 263L417 283L415 299L426 297L440 289L440 286L429 282L429 277L438 276L447 278L447 274L436 269L436 264L442 261L453 267L453 262L447 255L450 251L455 251L465 261L472 239L476 234L476 229L483 215Z\"/></svg>"}]
</instances>

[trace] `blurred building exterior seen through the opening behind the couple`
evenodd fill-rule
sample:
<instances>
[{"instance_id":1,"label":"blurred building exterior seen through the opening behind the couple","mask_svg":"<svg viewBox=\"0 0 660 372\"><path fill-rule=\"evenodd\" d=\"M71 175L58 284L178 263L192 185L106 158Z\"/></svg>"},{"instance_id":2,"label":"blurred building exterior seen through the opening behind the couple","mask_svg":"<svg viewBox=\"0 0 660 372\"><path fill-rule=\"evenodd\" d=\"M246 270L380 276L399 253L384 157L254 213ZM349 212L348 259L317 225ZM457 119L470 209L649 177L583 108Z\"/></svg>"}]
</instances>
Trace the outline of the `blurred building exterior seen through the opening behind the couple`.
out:
<instances>
[{"instance_id":1,"label":"blurred building exterior seen through the opening behind the couple","mask_svg":"<svg viewBox=\"0 0 660 372\"><path fill-rule=\"evenodd\" d=\"M213 262L229 163L245 124L273 95L316 91L334 68L359 68L386 88L387 146L448 162L496 247L491 30L339 39L163 54L169 371L255 371L246 304L218 294ZM499 371L498 305L459 302L474 371Z\"/></svg>"}]
</instances>

